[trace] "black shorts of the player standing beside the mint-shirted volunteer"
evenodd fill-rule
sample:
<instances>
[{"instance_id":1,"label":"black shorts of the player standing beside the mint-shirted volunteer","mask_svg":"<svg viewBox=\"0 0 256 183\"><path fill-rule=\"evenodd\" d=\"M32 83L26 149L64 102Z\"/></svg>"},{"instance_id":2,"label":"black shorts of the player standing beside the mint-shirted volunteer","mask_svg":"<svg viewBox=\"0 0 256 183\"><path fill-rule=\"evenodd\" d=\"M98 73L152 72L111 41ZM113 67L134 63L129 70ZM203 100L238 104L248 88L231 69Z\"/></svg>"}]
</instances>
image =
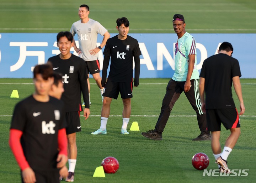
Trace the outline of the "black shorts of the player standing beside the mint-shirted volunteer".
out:
<instances>
[{"instance_id":1,"label":"black shorts of the player standing beside the mint-shirted volunteer","mask_svg":"<svg viewBox=\"0 0 256 183\"><path fill-rule=\"evenodd\" d=\"M103 96L117 99L119 92L121 98L132 98L133 82L107 81L103 90Z\"/></svg>"}]
</instances>

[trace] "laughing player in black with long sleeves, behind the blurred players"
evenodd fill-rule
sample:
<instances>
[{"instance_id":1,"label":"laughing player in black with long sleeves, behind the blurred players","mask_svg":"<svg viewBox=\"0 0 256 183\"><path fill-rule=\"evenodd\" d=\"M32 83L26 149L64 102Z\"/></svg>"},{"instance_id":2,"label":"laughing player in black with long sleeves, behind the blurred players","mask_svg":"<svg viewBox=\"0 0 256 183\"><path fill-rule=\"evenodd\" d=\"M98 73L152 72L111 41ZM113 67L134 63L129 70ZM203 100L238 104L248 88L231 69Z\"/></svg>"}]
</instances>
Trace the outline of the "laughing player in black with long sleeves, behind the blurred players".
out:
<instances>
[{"instance_id":1,"label":"laughing player in black with long sleeves, behind the blurred players","mask_svg":"<svg viewBox=\"0 0 256 183\"><path fill-rule=\"evenodd\" d=\"M87 119L90 115L89 109L89 93L86 71L86 62L70 53L73 46L73 35L70 32L60 32L57 35L57 46L60 54L48 59L52 63L53 70L63 75L64 92L61 100L64 101L66 111L66 134L68 138L68 162L69 175L67 182L74 181L74 171L77 157L76 132L81 131L80 111L81 92L85 102L84 117Z\"/></svg>"}]
</instances>

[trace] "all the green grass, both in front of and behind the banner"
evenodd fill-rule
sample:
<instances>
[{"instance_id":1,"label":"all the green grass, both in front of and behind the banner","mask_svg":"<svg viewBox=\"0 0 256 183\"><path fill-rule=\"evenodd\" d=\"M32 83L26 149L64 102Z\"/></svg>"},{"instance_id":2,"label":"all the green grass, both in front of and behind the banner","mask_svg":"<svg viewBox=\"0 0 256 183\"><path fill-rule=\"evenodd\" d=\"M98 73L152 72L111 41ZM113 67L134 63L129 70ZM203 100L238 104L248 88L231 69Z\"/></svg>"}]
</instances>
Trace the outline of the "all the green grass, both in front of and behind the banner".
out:
<instances>
[{"instance_id":1,"label":"all the green grass, both in front of and behind the banner","mask_svg":"<svg viewBox=\"0 0 256 183\"><path fill-rule=\"evenodd\" d=\"M110 33L117 33L116 19L127 17L129 33L174 33L172 16L185 16L189 33L256 33L256 1L254 0L1 0L0 33L58 33L69 31L79 20L78 7L87 4L89 17L100 22ZM203 172L193 168L191 158L198 152L209 156L209 169L217 169L210 141L193 142L199 135L195 112L182 95L176 102L162 141L153 141L140 135L154 129L160 113L162 98L169 79L141 79L134 88L132 99L133 121L138 121L140 131L121 135L122 101L113 100L111 116L105 136L90 133L100 126L101 98L97 86L91 85L91 116L81 117L82 132L77 134L78 161L75 182L255 182L255 85L256 79L241 79L246 107L241 116L241 136L230 154L229 168L249 169L247 177L202 177ZM3 84L6 83L6 84ZM9 84L12 83L12 84ZM22 84L30 83L30 84ZM95 83L91 80L91 83ZM18 90L20 98L10 98ZM20 181L20 170L8 145L9 127L15 104L34 91L32 79L0 79L0 182ZM238 99L234 93L236 106ZM229 131L223 127L221 143ZM93 178L96 167L106 156L118 159L120 167L106 178Z\"/></svg>"}]
</instances>

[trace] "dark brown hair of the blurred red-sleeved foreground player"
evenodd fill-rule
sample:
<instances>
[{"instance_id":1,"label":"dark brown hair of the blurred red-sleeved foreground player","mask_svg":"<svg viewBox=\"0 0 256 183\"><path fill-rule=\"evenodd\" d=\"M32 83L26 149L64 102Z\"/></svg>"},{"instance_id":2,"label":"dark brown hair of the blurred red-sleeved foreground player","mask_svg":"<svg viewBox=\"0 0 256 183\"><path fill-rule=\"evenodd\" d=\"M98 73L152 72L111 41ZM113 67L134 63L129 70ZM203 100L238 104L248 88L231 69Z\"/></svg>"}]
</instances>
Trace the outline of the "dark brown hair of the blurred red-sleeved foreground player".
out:
<instances>
[{"instance_id":1,"label":"dark brown hair of the blurred red-sleeved foreground player","mask_svg":"<svg viewBox=\"0 0 256 183\"><path fill-rule=\"evenodd\" d=\"M53 76L53 67L52 64L42 64L42 65L36 65L36 67L34 67L34 71L33 71L33 78L36 78L37 74L41 74L42 78L44 80L47 80L48 78L51 78Z\"/></svg>"}]
</instances>

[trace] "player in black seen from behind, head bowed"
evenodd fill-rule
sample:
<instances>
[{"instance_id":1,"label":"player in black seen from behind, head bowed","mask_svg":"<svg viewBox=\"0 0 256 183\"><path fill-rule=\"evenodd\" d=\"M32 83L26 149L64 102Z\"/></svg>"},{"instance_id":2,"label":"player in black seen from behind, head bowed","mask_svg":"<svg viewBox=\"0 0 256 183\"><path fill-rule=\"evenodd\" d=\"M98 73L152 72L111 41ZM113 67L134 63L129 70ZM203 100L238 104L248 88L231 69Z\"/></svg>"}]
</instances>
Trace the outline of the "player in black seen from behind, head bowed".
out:
<instances>
[{"instance_id":1,"label":"player in black seen from behind, head bowed","mask_svg":"<svg viewBox=\"0 0 256 183\"><path fill-rule=\"evenodd\" d=\"M223 42L218 53L204 61L200 73L199 91L202 109L206 111L208 129L212 133L213 155L220 171L229 173L226 160L240 136L239 115L244 114L245 106L239 79L241 77L239 63L237 59L231 57L233 46L229 42ZM232 82L240 101L239 115L232 98ZM231 132L222 152L219 142L221 124Z\"/></svg>"}]
</instances>

